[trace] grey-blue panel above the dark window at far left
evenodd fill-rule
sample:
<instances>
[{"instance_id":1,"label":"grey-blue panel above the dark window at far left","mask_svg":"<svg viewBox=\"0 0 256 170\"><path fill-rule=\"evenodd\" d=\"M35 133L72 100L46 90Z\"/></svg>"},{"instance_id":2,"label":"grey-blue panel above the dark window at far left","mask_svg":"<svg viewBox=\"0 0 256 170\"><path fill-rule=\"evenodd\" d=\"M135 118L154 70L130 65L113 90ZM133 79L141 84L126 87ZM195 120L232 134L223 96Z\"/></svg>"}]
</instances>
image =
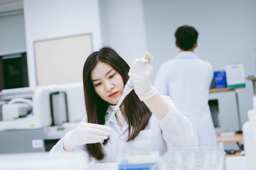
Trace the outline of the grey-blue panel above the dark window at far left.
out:
<instances>
[{"instance_id":1,"label":"grey-blue panel above the dark window at far left","mask_svg":"<svg viewBox=\"0 0 256 170\"><path fill-rule=\"evenodd\" d=\"M0 16L0 53L26 50L23 11Z\"/></svg>"}]
</instances>

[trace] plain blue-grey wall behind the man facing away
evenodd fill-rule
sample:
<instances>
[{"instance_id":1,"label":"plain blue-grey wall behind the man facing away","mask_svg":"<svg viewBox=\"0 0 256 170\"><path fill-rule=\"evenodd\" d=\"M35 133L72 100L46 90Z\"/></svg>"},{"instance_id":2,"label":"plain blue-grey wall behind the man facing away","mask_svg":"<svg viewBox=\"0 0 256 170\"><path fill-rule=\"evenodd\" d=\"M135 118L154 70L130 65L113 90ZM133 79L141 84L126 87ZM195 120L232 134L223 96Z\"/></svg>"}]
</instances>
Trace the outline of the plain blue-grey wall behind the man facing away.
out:
<instances>
[{"instance_id":1,"label":"plain blue-grey wall behind the man facing away","mask_svg":"<svg viewBox=\"0 0 256 170\"><path fill-rule=\"evenodd\" d=\"M214 70L225 64L244 62L245 74L255 73L256 1L154 1L145 0L144 16L147 45L154 55L154 77L160 64L176 57L174 33L179 26L194 26L199 33L195 52L213 65ZM242 124L252 108L252 82L238 90ZM235 92L210 94L218 98L221 128L216 131L238 130Z\"/></svg>"}]
</instances>

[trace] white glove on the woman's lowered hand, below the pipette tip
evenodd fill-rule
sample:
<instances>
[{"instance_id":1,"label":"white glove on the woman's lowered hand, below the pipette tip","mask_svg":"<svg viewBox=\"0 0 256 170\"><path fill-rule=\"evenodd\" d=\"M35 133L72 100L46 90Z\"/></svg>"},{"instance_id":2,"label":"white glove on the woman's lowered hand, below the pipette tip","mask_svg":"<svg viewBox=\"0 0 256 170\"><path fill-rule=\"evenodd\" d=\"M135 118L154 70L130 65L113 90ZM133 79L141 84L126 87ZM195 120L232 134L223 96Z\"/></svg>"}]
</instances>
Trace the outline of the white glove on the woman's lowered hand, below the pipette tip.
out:
<instances>
[{"instance_id":1,"label":"white glove on the woman's lowered hand, below the pipette tip","mask_svg":"<svg viewBox=\"0 0 256 170\"><path fill-rule=\"evenodd\" d=\"M79 145L92 144L106 140L110 127L94 123L80 123L77 128L65 134L63 145L70 150Z\"/></svg>"}]
</instances>

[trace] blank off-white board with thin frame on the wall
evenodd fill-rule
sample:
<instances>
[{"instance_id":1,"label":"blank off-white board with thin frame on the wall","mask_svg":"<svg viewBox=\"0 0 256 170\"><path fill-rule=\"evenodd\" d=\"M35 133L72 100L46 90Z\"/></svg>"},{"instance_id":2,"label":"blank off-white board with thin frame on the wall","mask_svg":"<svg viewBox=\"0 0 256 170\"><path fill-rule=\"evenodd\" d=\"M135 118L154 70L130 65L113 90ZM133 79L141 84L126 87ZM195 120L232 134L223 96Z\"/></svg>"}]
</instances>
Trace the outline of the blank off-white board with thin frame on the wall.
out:
<instances>
[{"instance_id":1,"label":"blank off-white board with thin frame on the wall","mask_svg":"<svg viewBox=\"0 0 256 170\"><path fill-rule=\"evenodd\" d=\"M34 42L37 86L82 82L82 68L92 53L91 35Z\"/></svg>"}]
</instances>

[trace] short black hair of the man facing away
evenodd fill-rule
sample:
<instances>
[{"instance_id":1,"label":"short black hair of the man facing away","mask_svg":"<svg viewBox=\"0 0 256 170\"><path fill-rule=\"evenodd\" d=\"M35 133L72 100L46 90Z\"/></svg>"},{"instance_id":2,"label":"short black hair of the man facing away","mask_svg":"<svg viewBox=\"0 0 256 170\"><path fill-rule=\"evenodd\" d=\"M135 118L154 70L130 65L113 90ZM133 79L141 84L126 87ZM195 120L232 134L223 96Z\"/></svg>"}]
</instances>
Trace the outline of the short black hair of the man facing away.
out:
<instances>
[{"instance_id":1,"label":"short black hair of the man facing away","mask_svg":"<svg viewBox=\"0 0 256 170\"><path fill-rule=\"evenodd\" d=\"M182 50L190 50L198 38L198 32L191 26L181 26L175 33L176 43Z\"/></svg>"}]
</instances>

